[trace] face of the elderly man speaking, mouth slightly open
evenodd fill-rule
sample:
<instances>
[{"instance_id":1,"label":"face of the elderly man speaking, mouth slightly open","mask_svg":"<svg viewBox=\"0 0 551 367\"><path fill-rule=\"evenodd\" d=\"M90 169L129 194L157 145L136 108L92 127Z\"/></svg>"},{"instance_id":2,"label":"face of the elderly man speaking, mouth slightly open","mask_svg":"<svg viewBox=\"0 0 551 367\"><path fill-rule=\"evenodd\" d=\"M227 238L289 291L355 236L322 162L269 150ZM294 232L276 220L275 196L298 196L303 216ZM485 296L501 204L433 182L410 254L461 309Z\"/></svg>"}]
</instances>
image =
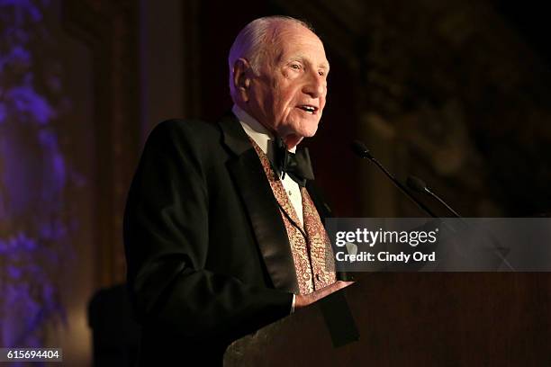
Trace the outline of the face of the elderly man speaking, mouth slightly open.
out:
<instances>
[{"instance_id":1,"label":"face of the elderly man speaking, mouth slightly open","mask_svg":"<svg viewBox=\"0 0 551 367\"><path fill-rule=\"evenodd\" d=\"M318 130L327 95L329 62L321 40L292 25L279 32L250 81L248 108L290 145Z\"/></svg>"}]
</instances>

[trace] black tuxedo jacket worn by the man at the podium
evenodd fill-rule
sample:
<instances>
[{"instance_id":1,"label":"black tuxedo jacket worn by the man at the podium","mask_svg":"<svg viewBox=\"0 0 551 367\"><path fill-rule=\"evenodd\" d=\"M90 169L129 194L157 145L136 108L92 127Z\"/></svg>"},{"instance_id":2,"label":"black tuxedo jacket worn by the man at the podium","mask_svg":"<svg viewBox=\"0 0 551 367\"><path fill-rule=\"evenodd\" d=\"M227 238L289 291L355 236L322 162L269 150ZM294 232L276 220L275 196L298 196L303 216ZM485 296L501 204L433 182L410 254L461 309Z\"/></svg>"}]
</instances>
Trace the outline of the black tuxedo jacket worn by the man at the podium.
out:
<instances>
[{"instance_id":1,"label":"black tuxedo jacket worn by the man at the podium","mask_svg":"<svg viewBox=\"0 0 551 367\"><path fill-rule=\"evenodd\" d=\"M329 206L307 188L323 219ZM151 132L124 244L143 364L168 355L221 362L231 341L288 315L298 290L276 198L233 114Z\"/></svg>"}]
</instances>

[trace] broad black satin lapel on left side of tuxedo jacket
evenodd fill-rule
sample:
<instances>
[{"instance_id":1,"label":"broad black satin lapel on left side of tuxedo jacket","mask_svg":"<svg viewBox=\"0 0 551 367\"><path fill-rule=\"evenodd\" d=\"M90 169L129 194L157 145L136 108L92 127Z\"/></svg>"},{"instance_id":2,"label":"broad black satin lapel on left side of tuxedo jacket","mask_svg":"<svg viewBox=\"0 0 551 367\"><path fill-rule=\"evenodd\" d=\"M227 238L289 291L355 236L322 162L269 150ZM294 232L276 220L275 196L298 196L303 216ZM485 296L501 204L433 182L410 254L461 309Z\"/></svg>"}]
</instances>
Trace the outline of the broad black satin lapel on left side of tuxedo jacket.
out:
<instances>
[{"instance_id":1,"label":"broad black satin lapel on left side of tuxedo jacket","mask_svg":"<svg viewBox=\"0 0 551 367\"><path fill-rule=\"evenodd\" d=\"M228 170L248 211L267 273L276 289L298 292L285 224L257 152L233 114L224 116L219 126L223 143L234 155Z\"/></svg>"}]
</instances>

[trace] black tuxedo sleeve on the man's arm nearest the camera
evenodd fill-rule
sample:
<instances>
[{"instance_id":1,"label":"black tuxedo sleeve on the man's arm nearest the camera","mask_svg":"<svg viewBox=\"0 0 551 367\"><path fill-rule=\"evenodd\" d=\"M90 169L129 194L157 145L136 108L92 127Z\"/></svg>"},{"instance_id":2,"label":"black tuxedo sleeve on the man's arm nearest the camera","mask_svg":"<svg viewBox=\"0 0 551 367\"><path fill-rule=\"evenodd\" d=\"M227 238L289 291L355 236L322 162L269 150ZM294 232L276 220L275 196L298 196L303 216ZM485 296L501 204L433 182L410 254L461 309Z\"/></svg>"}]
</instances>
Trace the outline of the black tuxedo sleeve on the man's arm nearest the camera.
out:
<instances>
[{"instance_id":1,"label":"black tuxedo sleeve on the man's arm nearest the camera","mask_svg":"<svg viewBox=\"0 0 551 367\"><path fill-rule=\"evenodd\" d=\"M124 215L128 285L136 317L176 335L238 338L289 314L293 294L203 268L209 195L182 121L149 136Z\"/></svg>"}]
</instances>

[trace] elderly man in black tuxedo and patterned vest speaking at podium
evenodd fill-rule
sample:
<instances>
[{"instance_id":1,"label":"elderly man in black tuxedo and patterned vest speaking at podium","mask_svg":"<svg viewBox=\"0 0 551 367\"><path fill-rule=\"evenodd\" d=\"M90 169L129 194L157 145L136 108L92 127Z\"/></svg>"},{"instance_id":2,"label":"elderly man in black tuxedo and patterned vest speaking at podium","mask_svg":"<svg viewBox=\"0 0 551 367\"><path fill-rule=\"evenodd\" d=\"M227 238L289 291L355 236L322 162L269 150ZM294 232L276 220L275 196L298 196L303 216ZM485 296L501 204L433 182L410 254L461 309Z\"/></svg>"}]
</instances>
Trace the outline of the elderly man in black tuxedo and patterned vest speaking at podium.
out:
<instances>
[{"instance_id":1,"label":"elderly man in black tuxedo and patterned vest speaking at podium","mask_svg":"<svg viewBox=\"0 0 551 367\"><path fill-rule=\"evenodd\" d=\"M227 345L346 286L308 152L329 62L303 22L250 22L230 49L232 113L165 121L131 184L124 240L141 360L221 363Z\"/></svg>"}]
</instances>

